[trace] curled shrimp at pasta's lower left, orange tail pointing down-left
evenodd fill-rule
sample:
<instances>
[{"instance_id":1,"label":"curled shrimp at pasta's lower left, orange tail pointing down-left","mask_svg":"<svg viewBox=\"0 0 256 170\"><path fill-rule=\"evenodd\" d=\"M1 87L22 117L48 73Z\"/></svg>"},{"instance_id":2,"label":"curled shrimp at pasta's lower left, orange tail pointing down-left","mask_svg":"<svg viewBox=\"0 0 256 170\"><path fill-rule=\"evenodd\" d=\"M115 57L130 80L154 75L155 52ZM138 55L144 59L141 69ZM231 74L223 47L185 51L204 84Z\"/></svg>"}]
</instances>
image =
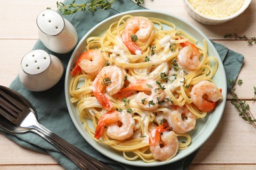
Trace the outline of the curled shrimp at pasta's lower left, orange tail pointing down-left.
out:
<instances>
[{"instance_id":1,"label":"curled shrimp at pasta's lower left, orange tail pointing down-left","mask_svg":"<svg viewBox=\"0 0 256 170\"><path fill-rule=\"evenodd\" d=\"M121 126L118 126L121 122ZM124 140L133 135L135 130L135 120L131 114L117 110L111 110L106 112L100 117L95 129L95 138L100 139L104 131L104 127L107 126L106 134L112 139Z\"/></svg>"}]
</instances>

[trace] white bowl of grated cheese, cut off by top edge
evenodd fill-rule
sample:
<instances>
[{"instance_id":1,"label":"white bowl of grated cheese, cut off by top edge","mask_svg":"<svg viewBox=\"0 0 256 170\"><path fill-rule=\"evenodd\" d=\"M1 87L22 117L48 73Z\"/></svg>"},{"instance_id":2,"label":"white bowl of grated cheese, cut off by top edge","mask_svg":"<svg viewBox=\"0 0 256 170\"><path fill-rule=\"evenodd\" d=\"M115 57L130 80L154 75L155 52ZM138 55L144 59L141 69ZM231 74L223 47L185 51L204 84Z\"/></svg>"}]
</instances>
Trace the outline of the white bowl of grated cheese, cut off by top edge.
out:
<instances>
[{"instance_id":1,"label":"white bowl of grated cheese, cut off by top edge","mask_svg":"<svg viewBox=\"0 0 256 170\"><path fill-rule=\"evenodd\" d=\"M242 14L251 0L183 0L188 14L198 22L219 25Z\"/></svg>"}]
</instances>

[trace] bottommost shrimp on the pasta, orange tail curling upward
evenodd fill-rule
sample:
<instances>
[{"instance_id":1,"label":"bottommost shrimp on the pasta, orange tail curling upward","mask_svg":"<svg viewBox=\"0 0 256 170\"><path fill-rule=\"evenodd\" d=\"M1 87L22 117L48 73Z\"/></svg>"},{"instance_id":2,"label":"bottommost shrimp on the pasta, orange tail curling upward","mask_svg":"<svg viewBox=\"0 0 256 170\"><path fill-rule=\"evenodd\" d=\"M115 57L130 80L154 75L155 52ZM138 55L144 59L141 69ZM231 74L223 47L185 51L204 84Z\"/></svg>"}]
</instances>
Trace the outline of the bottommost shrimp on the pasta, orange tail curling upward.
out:
<instances>
[{"instance_id":1,"label":"bottommost shrimp on the pasta, orange tail curling upward","mask_svg":"<svg viewBox=\"0 0 256 170\"><path fill-rule=\"evenodd\" d=\"M177 136L174 131L167 130L169 130L169 126L165 123L156 127L150 133L150 152L156 160L167 161L178 152L179 141ZM161 141L163 146L161 146Z\"/></svg>"}]
</instances>

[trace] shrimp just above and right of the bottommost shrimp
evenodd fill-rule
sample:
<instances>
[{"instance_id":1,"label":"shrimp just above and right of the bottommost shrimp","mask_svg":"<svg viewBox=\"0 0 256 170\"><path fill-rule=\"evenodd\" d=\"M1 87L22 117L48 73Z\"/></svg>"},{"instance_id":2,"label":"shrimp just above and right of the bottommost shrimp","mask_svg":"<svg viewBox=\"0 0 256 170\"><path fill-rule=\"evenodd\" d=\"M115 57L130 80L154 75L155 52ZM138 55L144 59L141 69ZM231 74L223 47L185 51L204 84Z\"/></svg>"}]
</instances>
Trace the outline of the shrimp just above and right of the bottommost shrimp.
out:
<instances>
[{"instance_id":1,"label":"shrimp just above and right of the bottommost shrimp","mask_svg":"<svg viewBox=\"0 0 256 170\"><path fill-rule=\"evenodd\" d=\"M169 126L177 133L186 133L196 126L196 116L192 114L185 106L174 107L175 110L169 113Z\"/></svg>"}]
</instances>

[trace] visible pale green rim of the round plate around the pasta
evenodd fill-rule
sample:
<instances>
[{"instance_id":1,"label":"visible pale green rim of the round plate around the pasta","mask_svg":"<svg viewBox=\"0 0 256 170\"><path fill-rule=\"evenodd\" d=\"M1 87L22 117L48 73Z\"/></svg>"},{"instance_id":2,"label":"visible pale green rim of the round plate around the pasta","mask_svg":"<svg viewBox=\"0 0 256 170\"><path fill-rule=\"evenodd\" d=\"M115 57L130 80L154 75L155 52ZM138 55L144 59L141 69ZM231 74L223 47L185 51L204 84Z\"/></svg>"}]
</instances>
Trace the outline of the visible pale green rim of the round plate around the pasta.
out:
<instances>
[{"instance_id":1,"label":"visible pale green rim of the round plate around the pasta","mask_svg":"<svg viewBox=\"0 0 256 170\"><path fill-rule=\"evenodd\" d=\"M83 124L81 124L79 120L79 115L77 112L77 108L75 105L70 103L70 95L68 93L68 89L70 87L70 81L72 79L71 76L71 69L73 65L75 64L77 58L80 56L80 54L85 50L86 46L86 39L91 36L95 35L101 35L103 32L108 29L109 25L112 24L112 22L115 22L121 18L121 16L125 14L131 14L133 16L146 16L146 17L154 17L154 18L160 18L163 20L167 20L169 22L173 22L177 26L177 29L182 29L188 35L191 35L192 37L196 38L198 40L198 45L203 46L203 39L207 41L208 44L208 53L209 56L215 56L219 61L219 68L217 70L217 73L213 77L213 80L217 84L219 88L222 88L223 90L223 100L219 102L216 109L211 112L211 114L207 114L205 118L202 118L197 121L196 129L192 130L190 132L190 135L192 137L192 143L186 150L179 150L177 155L172 158L169 161L155 161L152 163L145 163L142 160L137 161L128 161L125 160L121 154L121 152L117 152L116 150L113 150L112 148L108 146L104 146L102 144L96 143L93 139L91 139L89 133L85 130L83 127ZM188 156L195 150L197 150L200 146L202 146L205 141L211 136L217 125L219 124L219 121L221 120L221 116L223 114L224 106L226 103L226 76L224 73L224 67L221 62L221 59L219 58L219 54L215 50L213 44L203 35L203 33L194 27L191 24L188 24L181 18L178 18L177 16L173 16L172 14L167 14L155 10L133 10L129 12L124 12L121 14L117 14L115 16L112 16L108 18L107 20L104 20L103 22L100 22L97 24L91 31L89 31L83 39L77 44L77 47L75 48L72 57L70 58L70 61L68 63L68 68L66 71L66 80L65 80L65 94L66 94L66 103L68 105L68 110L70 112L70 116L77 127L78 131L81 133L81 135L85 138L85 140L91 144L96 150L98 150L100 153L104 154L105 156L111 158L112 160L119 161L121 163L125 163L128 165L136 165L136 166L142 166L142 167L152 167L152 166L158 166L158 165L165 165L167 163L172 163L178 160L181 160L182 158Z\"/></svg>"}]
</instances>

